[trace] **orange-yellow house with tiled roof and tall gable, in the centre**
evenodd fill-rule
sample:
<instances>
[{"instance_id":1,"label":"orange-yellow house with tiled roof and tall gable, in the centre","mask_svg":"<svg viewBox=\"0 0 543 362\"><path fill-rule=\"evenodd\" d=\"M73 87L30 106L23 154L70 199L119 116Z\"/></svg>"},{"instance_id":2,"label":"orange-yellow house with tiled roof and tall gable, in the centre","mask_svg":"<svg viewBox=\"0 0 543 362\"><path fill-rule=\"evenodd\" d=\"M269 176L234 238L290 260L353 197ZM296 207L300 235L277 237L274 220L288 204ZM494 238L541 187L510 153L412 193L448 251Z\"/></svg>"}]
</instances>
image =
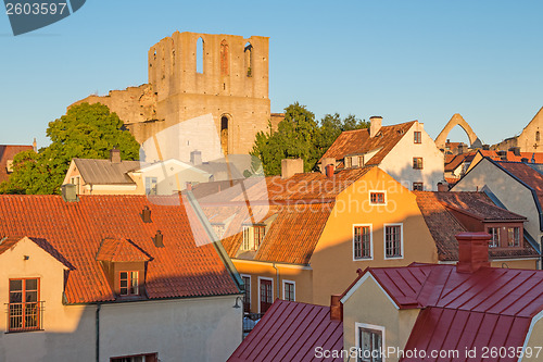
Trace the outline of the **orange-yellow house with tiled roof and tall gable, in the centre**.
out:
<instances>
[{"instance_id":1,"label":"orange-yellow house with tiled roof and tall gable, in the centre","mask_svg":"<svg viewBox=\"0 0 543 362\"><path fill-rule=\"evenodd\" d=\"M438 261L415 195L379 167L302 170L200 200L244 280L247 312L276 298L327 304L359 267Z\"/></svg>"}]
</instances>

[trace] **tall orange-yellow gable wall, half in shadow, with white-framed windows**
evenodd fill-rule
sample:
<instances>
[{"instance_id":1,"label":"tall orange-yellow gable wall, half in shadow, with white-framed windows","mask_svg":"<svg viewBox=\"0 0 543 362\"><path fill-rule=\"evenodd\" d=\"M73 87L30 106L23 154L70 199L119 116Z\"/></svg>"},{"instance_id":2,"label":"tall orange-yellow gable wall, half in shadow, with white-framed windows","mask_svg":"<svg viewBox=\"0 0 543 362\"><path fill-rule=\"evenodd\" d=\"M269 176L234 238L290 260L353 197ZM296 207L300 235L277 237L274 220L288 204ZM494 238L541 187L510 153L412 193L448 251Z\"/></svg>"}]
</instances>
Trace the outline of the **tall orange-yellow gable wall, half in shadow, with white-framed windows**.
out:
<instances>
[{"instance_id":1,"label":"tall orange-yellow gable wall, half in shadow, with white-framed windows","mask_svg":"<svg viewBox=\"0 0 543 362\"><path fill-rule=\"evenodd\" d=\"M384 190L386 205L370 205L369 190ZM384 259L384 224L403 225L403 258ZM371 260L353 260L353 225L371 224ZM311 258L313 303L328 305L330 295L342 294L357 269L437 263L435 242L418 209L415 195L383 171L374 167L338 198Z\"/></svg>"}]
</instances>

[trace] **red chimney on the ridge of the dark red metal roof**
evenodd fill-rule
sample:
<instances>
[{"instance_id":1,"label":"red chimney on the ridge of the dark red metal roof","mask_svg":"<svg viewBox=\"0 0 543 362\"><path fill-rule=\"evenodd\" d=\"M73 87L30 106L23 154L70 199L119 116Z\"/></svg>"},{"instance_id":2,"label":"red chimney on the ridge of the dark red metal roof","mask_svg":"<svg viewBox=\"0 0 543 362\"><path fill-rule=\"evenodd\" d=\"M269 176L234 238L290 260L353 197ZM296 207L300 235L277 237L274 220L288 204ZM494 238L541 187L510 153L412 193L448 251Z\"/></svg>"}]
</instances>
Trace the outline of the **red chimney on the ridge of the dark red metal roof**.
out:
<instances>
[{"instance_id":1,"label":"red chimney on the ridge of the dark red metal roof","mask_svg":"<svg viewBox=\"0 0 543 362\"><path fill-rule=\"evenodd\" d=\"M456 264L456 272L475 273L483 266L490 266L489 234L460 233L456 235L456 240L458 240L458 263Z\"/></svg>"}]
</instances>

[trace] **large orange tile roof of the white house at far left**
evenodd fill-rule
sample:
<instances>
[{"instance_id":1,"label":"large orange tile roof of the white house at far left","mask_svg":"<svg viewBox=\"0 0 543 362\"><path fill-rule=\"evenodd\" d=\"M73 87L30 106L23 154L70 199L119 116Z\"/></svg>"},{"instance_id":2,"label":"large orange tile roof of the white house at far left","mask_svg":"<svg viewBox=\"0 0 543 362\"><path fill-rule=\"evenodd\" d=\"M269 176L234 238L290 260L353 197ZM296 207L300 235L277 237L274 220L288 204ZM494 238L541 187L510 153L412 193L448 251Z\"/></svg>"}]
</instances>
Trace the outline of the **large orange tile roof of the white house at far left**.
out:
<instances>
[{"instance_id":1,"label":"large orange tile roof of the white house at far left","mask_svg":"<svg viewBox=\"0 0 543 362\"><path fill-rule=\"evenodd\" d=\"M72 264L65 286L68 303L114 300L96 258L99 250L112 255L100 248L104 239L123 238L126 242L118 241L124 250L118 258L152 258L146 275L150 299L238 294L194 211L185 202L175 205L179 201L177 197L80 196L79 202L64 202L60 196L0 196L0 236L8 240L28 236ZM146 205L152 223L143 223L140 216ZM164 248L152 240L159 229ZM106 244L110 250L115 246L114 240Z\"/></svg>"}]
</instances>

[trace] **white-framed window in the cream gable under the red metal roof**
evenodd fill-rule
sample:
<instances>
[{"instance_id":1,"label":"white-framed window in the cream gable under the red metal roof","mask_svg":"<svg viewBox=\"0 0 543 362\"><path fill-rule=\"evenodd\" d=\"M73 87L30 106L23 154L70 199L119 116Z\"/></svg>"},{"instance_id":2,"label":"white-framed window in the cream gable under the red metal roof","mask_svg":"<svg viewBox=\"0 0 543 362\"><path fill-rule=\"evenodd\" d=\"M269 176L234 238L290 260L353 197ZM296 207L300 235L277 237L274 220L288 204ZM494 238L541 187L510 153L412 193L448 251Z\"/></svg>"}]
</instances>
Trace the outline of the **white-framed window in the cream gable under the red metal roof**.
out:
<instances>
[{"instance_id":1,"label":"white-framed window in the cream gable under the red metal roof","mask_svg":"<svg viewBox=\"0 0 543 362\"><path fill-rule=\"evenodd\" d=\"M384 327L356 323L355 338L358 362L382 362L384 350Z\"/></svg>"}]
</instances>

